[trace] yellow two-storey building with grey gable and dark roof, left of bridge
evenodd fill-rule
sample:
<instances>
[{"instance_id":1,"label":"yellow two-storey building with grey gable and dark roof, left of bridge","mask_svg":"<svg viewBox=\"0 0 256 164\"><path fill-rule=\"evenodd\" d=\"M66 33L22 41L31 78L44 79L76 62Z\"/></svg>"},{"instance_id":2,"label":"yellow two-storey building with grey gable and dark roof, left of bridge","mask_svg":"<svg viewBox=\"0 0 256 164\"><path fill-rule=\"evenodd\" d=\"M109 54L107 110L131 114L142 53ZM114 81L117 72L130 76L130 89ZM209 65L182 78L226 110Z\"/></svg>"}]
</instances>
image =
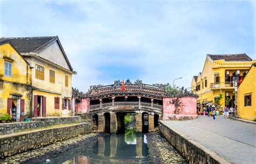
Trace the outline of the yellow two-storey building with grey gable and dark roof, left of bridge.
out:
<instances>
[{"instance_id":1,"label":"yellow two-storey building with grey gable and dark roof, left of bridge","mask_svg":"<svg viewBox=\"0 0 256 164\"><path fill-rule=\"evenodd\" d=\"M76 72L58 37L4 39L9 40L31 66L33 117L70 115L72 75Z\"/></svg>"}]
</instances>

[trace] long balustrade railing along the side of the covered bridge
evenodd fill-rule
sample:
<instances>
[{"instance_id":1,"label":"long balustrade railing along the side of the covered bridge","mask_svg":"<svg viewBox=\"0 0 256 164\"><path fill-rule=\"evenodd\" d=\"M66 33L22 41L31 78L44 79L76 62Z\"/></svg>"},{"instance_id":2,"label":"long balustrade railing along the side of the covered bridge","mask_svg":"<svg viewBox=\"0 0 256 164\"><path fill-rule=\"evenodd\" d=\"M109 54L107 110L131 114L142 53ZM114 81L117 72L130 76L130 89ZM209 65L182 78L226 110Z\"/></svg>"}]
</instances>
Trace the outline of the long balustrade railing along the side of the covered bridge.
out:
<instances>
[{"instance_id":1,"label":"long balustrade railing along the side of the covered bridge","mask_svg":"<svg viewBox=\"0 0 256 164\"><path fill-rule=\"evenodd\" d=\"M111 106L144 106L144 107L153 107L153 108L158 108L160 110L163 110L163 105L156 104L156 103L147 103L147 102L140 102L139 104L139 101L117 101L117 102L114 102L114 104L112 102L109 102L109 103L102 103L102 105L94 104L94 105L90 105L90 110L93 111L100 108L111 107Z\"/></svg>"}]
</instances>

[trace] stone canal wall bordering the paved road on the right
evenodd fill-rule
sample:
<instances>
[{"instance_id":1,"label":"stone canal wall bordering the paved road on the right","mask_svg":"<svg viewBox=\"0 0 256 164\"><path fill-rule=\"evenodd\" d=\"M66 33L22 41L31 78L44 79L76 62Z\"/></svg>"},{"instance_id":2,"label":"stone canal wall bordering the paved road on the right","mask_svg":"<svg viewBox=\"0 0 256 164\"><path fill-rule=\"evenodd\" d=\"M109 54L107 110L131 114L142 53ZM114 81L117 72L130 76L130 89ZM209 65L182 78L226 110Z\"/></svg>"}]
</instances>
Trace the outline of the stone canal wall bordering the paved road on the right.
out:
<instances>
[{"instance_id":1,"label":"stone canal wall bordering the paved road on the right","mask_svg":"<svg viewBox=\"0 0 256 164\"><path fill-rule=\"evenodd\" d=\"M160 133L184 156L188 163L230 163L216 153L193 141L187 136L173 131L160 122Z\"/></svg>"}]
</instances>

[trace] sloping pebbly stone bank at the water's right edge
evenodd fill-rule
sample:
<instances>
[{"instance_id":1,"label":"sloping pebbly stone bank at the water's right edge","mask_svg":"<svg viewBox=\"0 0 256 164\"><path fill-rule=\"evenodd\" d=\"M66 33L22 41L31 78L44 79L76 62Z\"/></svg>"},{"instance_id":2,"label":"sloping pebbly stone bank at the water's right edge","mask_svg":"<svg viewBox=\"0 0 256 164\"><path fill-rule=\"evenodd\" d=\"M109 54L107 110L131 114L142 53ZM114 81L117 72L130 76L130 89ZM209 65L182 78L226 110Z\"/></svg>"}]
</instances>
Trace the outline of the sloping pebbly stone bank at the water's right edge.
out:
<instances>
[{"instance_id":1,"label":"sloping pebbly stone bank at the water's right edge","mask_svg":"<svg viewBox=\"0 0 256 164\"><path fill-rule=\"evenodd\" d=\"M152 163L187 163L159 132L147 133L146 136Z\"/></svg>"}]
</instances>

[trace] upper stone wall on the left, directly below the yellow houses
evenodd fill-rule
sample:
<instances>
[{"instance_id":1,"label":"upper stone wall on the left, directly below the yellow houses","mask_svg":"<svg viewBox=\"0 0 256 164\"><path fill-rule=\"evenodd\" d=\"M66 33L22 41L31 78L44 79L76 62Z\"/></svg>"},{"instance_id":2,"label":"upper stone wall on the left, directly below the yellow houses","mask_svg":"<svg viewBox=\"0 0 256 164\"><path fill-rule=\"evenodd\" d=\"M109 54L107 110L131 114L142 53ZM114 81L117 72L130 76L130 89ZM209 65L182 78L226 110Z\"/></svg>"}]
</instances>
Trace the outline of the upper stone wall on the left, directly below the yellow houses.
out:
<instances>
[{"instance_id":1,"label":"upper stone wall on the left, directly below the yellow houses","mask_svg":"<svg viewBox=\"0 0 256 164\"><path fill-rule=\"evenodd\" d=\"M46 127L59 124L80 123L82 119L76 117L56 117L56 118L36 118L36 121L30 122L12 122L0 124L0 135L11 134L23 129Z\"/></svg>"}]
</instances>

